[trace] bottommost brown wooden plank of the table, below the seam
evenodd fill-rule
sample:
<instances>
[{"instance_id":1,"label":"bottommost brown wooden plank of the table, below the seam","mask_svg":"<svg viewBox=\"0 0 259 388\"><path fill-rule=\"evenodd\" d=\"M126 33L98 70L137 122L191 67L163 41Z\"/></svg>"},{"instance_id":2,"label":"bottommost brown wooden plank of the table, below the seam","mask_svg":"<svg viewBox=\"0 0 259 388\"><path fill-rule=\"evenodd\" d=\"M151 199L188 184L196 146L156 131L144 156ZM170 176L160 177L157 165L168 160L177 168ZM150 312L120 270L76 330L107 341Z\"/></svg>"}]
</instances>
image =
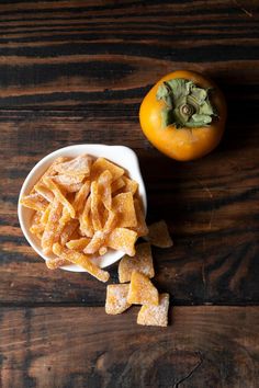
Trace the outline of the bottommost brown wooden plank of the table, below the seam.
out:
<instances>
[{"instance_id":1,"label":"bottommost brown wooden plank of the table, below the seam","mask_svg":"<svg viewBox=\"0 0 259 388\"><path fill-rule=\"evenodd\" d=\"M164 329L136 326L137 311L1 309L1 386L258 386L258 308L178 307Z\"/></svg>"}]
</instances>

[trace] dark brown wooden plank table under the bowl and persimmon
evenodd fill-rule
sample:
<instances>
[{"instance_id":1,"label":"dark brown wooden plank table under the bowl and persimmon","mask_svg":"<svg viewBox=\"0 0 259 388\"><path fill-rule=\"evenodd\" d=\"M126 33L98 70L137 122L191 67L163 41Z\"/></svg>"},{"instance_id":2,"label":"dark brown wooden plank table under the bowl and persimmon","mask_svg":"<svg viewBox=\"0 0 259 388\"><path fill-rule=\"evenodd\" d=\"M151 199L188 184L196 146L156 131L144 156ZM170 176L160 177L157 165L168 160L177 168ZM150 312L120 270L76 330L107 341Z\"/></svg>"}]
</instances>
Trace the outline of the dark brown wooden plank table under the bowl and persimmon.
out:
<instances>
[{"instance_id":1,"label":"dark brown wooden plank table under the bowl and persimmon","mask_svg":"<svg viewBox=\"0 0 259 388\"><path fill-rule=\"evenodd\" d=\"M14 1L0 5L0 386L256 388L259 385L258 1ZM155 150L138 123L153 83L202 71L228 102L202 160ZM52 272L29 247L18 194L53 150L83 142L138 155L170 326L104 312L105 285ZM110 269L117 281L117 265Z\"/></svg>"}]
</instances>

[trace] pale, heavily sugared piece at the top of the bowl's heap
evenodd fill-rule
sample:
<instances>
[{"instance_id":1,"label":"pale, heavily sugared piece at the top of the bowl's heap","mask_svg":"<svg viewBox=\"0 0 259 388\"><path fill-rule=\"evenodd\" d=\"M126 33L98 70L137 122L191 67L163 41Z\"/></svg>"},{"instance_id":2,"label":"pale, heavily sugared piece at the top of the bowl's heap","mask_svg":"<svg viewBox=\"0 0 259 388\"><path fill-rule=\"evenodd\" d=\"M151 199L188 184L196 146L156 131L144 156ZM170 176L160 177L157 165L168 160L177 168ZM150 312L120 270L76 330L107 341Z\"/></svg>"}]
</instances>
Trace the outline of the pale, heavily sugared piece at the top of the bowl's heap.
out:
<instances>
[{"instance_id":1,"label":"pale, heavily sugared piece at the top of the bowl's heap","mask_svg":"<svg viewBox=\"0 0 259 388\"><path fill-rule=\"evenodd\" d=\"M80 155L79 157L56 164L55 170L65 175L89 175L92 159L88 155Z\"/></svg>"}]
</instances>

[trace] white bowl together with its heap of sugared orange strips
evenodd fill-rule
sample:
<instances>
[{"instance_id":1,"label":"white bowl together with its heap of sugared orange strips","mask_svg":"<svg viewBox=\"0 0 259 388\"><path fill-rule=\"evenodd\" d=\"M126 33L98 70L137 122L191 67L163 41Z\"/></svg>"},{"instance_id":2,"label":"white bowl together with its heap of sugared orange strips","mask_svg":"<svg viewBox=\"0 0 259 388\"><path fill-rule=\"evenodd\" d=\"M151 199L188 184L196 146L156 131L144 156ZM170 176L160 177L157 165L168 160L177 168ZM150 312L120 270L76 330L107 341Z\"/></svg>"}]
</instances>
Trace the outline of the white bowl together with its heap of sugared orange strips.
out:
<instances>
[{"instance_id":1,"label":"white bowl together with its heap of sugared orange strips","mask_svg":"<svg viewBox=\"0 0 259 388\"><path fill-rule=\"evenodd\" d=\"M135 254L147 235L146 190L128 147L76 145L43 158L25 179L19 221L49 269L89 272ZM103 278L102 278L103 277Z\"/></svg>"}]
</instances>

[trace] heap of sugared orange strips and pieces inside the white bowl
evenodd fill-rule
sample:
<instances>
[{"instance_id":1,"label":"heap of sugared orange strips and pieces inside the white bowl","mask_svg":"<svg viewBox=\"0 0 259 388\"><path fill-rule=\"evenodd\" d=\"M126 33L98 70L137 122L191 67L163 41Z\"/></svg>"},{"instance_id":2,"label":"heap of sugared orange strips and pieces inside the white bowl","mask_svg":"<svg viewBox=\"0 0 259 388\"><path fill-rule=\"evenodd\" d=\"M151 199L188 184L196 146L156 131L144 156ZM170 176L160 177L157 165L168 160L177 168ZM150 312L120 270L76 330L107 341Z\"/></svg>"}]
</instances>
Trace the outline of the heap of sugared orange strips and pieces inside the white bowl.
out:
<instances>
[{"instance_id":1,"label":"heap of sugared orange strips and pieces inside the white bowl","mask_svg":"<svg viewBox=\"0 0 259 388\"><path fill-rule=\"evenodd\" d=\"M137 189L123 168L104 158L57 158L20 199L34 210L30 232L49 256L46 265L77 264L106 282L98 259L112 250L133 256L145 231Z\"/></svg>"}]
</instances>

